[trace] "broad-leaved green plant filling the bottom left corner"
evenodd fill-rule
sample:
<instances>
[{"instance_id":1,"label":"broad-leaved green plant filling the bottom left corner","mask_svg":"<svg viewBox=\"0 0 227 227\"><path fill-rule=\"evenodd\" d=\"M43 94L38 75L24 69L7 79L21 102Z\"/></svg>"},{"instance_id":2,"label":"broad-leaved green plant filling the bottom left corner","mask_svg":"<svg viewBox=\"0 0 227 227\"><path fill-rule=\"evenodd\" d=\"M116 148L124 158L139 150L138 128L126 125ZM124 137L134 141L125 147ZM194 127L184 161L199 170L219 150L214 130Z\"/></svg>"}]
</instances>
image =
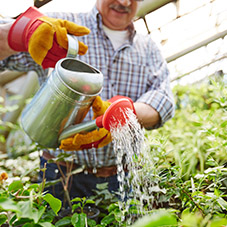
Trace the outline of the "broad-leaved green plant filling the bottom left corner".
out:
<instances>
[{"instance_id":1,"label":"broad-leaved green plant filling the bottom left corner","mask_svg":"<svg viewBox=\"0 0 227 227\"><path fill-rule=\"evenodd\" d=\"M1 224L8 226L53 226L51 222L61 209L61 201L42 193L42 185L13 181L1 184Z\"/></svg>"}]
</instances>

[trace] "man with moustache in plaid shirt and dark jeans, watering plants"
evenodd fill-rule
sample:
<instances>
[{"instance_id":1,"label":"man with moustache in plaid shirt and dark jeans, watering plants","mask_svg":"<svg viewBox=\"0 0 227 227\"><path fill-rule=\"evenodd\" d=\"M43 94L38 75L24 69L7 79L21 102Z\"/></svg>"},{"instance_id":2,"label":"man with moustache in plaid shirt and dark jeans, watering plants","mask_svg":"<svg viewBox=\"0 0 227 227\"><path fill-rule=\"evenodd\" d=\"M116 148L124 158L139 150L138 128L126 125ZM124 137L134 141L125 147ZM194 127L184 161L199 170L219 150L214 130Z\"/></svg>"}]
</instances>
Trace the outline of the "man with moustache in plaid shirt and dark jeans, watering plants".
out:
<instances>
[{"instance_id":1,"label":"man with moustache in plaid shirt and dark jeans, watering plants","mask_svg":"<svg viewBox=\"0 0 227 227\"><path fill-rule=\"evenodd\" d=\"M137 34L133 27L132 20L137 12L138 4L136 0L97 0L96 5L89 13L51 13L48 14L48 18L62 18L82 26L78 27L77 30L82 30L78 39L80 47L84 51L78 58L103 73L104 87L100 94L102 100L109 100L116 95L131 98L139 122L149 130L161 127L168 119L173 117L174 102L170 90L167 64L159 49L149 36ZM46 18L47 21L52 23L52 20L48 18ZM42 19L41 21L40 23L45 23L45 20ZM10 37L9 29L11 26L12 24L4 24L0 28L0 36L3 37L0 41L0 59L2 59L0 69L35 70L40 81L44 81L46 75L43 69L29 55L32 51L25 48L25 52L17 53L15 52L16 47L12 50L8 45L7 38ZM37 26L39 27L36 24L30 33L33 34L34 30L37 31ZM89 28L90 33L83 26ZM11 33L13 32L11 31ZM25 41L28 46L32 43L28 42L32 39L30 37L32 35L26 37L27 40ZM33 37L33 39L36 38L37 36ZM54 36L54 39L59 44L56 36ZM12 40L10 41L9 38L10 42ZM36 42L36 45L38 45L37 43L39 42ZM86 54L84 54L86 52L84 43L88 46ZM13 45L11 44L11 46ZM51 50L48 49L46 52L48 55ZM54 65L56 59L52 58L52 55L55 52L49 54L48 61L44 58L38 63L44 68L51 64ZM36 57L33 55L33 59L37 62ZM61 57L64 57L64 54ZM51 64L49 64L50 62ZM92 112L87 115L85 120L91 118ZM94 133L98 134L99 132ZM98 143L101 141L100 139L102 138L99 137ZM118 190L116 156L113 151L113 144L110 141L108 140L105 143L107 145L96 149L72 151L75 154L75 165L77 167L85 165L86 170L73 176L69 188L71 198L90 196L97 183L108 182L110 191ZM91 141L88 138L86 143L89 144L89 142ZM63 142L61 148L72 150L72 141L69 143L64 144ZM74 145L76 146L76 144ZM67 149L67 146L70 149ZM43 167L49 158L60 152L63 151L50 150L44 152L45 155L41 157L41 166ZM59 162L58 166L66 172L65 164ZM56 164L47 163L47 180L59 178L60 172ZM63 191L61 183L55 186L55 191L57 192L55 196L61 198L60 194ZM52 193L54 192L52 191Z\"/></svg>"}]
</instances>

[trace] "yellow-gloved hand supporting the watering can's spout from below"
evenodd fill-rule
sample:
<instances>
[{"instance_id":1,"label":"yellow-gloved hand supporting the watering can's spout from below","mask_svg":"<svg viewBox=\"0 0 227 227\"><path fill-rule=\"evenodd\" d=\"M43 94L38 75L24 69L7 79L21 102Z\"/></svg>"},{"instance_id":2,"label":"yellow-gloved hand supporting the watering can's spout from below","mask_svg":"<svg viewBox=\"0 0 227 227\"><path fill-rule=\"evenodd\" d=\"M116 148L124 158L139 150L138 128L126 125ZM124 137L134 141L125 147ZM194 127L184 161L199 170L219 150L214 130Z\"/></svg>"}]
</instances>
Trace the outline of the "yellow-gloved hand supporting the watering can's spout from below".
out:
<instances>
[{"instance_id":1,"label":"yellow-gloved hand supporting the watering can's spout from below","mask_svg":"<svg viewBox=\"0 0 227 227\"><path fill-rule=\"evenodd\" d=\"M105 113L111 102L103 101L100 96L97 96L92 104L94 112L94 119ZM100 128L88 132L86 134L76 134L74 137L70 137L61 141L60 149L63 150L81 150L89 149L92 147L99 148L107 145L112 140L111 134L105 128Z\"/></svg>"}]
</instances>

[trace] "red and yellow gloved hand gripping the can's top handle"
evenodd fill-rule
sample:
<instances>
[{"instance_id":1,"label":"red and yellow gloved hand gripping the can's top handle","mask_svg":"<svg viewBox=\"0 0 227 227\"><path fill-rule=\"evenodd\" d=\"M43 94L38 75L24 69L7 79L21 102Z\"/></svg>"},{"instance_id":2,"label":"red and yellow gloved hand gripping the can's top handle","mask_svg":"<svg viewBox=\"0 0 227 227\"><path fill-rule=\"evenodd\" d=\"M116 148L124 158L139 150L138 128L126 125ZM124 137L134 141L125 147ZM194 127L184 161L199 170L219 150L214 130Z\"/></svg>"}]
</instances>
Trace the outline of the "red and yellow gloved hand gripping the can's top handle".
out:
<instances>
[{"instance_id":1,"label":"red and yellow gloved hand gripping the can's top handle","mask_svg":"<svg viewBox=\"0 0 227 227\"><path fill-rule=\"evenodd\" d=\"M64 58L68 49L67 34L83 36L90 30L73 22L44 16L35 7L21 14L11 26L8 44L15 51L29 52L34 61L43 68L54 67ZM88 47L79 42L79 54Z\"/></svg>"}]
</instances>

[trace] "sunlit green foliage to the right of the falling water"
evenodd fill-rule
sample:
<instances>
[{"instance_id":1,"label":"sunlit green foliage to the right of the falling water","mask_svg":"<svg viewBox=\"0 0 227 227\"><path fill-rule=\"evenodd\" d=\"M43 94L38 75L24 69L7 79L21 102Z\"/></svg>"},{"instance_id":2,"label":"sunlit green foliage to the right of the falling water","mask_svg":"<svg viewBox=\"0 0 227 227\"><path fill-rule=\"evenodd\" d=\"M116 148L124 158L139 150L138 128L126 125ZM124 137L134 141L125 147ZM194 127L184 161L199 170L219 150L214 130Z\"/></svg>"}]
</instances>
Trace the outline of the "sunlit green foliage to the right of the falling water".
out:
<instances>
[{"instance_id":1,"label":"sunlit green foliage to the right of the falling water","mask_svg":"<svg viewBox=\"0 0 227 227\"><path fill-rule=\"evenodd\" d=\"M141 176L153 189L151 208L199 214L204 226L217 216L227 222L226 91L215 81L175 87L175 117L146 135L152 167L144 166Z\"/></svg>"}]
</instances>

